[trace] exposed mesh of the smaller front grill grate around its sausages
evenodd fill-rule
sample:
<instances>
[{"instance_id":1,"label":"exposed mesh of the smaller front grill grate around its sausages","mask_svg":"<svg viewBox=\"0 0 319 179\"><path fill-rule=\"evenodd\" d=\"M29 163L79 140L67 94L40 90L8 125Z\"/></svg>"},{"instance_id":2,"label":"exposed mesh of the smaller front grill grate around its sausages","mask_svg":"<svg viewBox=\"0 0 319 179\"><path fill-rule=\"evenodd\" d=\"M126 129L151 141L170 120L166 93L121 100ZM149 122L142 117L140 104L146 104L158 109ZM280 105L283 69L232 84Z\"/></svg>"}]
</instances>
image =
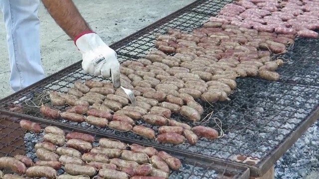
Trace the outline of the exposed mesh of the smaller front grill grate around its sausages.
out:
<instances>
[{"instance_id":1,"label":"exposed mesh of the smaller front grill grate around its sausages","mask_svg":"<svg viewBox=\"0 0 319 179\"><path fill-rule=\"evenodd\" d=\"M14 155L25 155L33 162L38 159L35 155L34 145L43 141L45 133L31 133L24 131L17 123L18 119L12 120L7 116L0 118L0 157L13 157ZM61 128L63 129L63 128ZM70 130L64 131L70 132ZM96 137L98 140L99 138ZM8 142L10 141L10 142ZM98 143L93 143L98 146ZM169 179L223 179L223 177L231 177L230 179L248 179L249 169L239 170L230 167L222 167L216 164L209 164L201 161L194 161L180 156L174 156L180 159L182 167L179 171L173 171ZM4 170L4 173L11 173ZM64 173L63 168L57 171L58 175Z\"/></svg>"}]
</instances>

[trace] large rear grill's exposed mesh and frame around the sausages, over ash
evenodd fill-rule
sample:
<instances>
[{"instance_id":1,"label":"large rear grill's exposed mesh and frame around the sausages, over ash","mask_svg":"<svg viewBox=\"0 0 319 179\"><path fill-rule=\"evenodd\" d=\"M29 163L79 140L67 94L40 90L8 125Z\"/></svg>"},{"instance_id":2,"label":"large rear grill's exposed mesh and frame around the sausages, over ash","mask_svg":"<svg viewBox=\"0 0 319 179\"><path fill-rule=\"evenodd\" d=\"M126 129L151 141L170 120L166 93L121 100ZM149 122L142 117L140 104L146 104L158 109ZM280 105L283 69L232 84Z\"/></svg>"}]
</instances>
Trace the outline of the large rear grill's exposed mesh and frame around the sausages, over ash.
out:
<instances>
[{"instance_id":1,"label":"large rear grill's exposed mesh and frame around the sausages, over ash","mask_svg":"<svg viewBox=\"0 0 319 179\"><path fill-rule=\"evenodd\" d=\"M183 31L199 28L202 21L207 20L211 15L216 15L222 6L230 2L230 0L197 0L111 47L117 51L120 62L143 58L154 48L157 34L166 33L167 28ZM28 106L34 105L30 101L26 105L25 99L32 100L36 105L41 102L51 105L49 100L43 97L46 91L66 92L77 80L105 81L84 73L80 62L2 99L1 111L4 114L33 121L63 124L70 129L76 128L93 134L155 146L160 150L170 151L187 158L197 158L221 165L248 167L251 176L259 177L269 170L318 118L319 81L316 65L318 44L318 40L297 39L294 47L282 56L288 59L288 63L278 70L282 75L279 82L269 82L259 78L237 79L237 89L229 96L230 101L210 105L198 100L197 102L205 109L203 116L214 111L212 117L222 121L222 130L225 135L214 141L200 139L195 146L164 145L131 132L101 129L87 123L78 124L66 120L52 121L39 113L37 108ZM15 104L12 106L13 102ZM22 106L23 110L20 110L18 106ZM64 110L65 107L58 109ZM172 115L171 118L194 126L180 115ZM139 124L143 123L139 122ZM158 130L158 127L144 125L155 131ZM214 120L200 125L218 129Z\"/></svg>"}]
</instances>

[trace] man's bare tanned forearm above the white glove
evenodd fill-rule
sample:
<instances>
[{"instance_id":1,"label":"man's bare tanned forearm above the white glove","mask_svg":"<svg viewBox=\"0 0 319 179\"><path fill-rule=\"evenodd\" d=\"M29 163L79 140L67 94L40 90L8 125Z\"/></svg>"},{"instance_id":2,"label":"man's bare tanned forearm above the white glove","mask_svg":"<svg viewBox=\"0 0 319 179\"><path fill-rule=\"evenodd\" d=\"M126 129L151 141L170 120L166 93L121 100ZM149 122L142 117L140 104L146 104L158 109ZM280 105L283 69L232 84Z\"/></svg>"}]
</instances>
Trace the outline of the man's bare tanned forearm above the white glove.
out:
<instances>
[{"instance_id":1,"label":"man's bare tanned forearm above the white glove","mask_svg":"<svg viewBox=\"0 0 319 179\"><path fill-rule=\"evenodd\" d=\"M72 0L42 0L55 22L72 39L80 33L91 31Z\"/></svg>"}]
</instances>

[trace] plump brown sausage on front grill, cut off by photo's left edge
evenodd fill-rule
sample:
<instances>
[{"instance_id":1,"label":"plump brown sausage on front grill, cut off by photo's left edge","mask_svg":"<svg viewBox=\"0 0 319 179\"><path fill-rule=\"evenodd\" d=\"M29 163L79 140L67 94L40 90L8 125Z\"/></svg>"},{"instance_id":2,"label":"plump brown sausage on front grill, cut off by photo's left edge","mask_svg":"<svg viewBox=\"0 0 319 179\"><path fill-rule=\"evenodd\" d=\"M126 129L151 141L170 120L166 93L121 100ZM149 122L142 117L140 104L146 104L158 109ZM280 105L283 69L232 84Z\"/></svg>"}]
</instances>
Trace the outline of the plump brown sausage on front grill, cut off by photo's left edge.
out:
<instances>
[{"instance_id":1,"label":"plump brown sausage on front grill, cut off by photo's left edge","mask_svg":"<svg viewBox=\"0 0 319 179\"><path fill-rule=\"evenodd\" d=\"M13 157L0 157L0 168L8 169L15 174L25 174L26 166Z\"/></svg>"}]
</instances>

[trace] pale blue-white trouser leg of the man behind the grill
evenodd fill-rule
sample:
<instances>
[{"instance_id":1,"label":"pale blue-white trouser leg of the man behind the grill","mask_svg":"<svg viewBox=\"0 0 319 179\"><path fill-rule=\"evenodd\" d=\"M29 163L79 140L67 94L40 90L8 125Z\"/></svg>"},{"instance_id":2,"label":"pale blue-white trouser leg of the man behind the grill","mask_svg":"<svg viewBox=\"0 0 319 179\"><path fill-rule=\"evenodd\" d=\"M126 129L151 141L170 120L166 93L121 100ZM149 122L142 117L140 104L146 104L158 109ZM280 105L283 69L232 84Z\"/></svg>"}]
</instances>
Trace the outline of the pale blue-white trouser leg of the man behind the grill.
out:
<instances>
[{"instance_id":1,"label":"pale blue-white trouser leg of the man behind the grill","mask_svg":"<svg viewBox=\"0 0 319 179\"><path fill-rule=\"evenodd\" d=\"M40 57L39 0L0 0L14 92L44 78ZM3 69L4 70L4 69Z\"/></svg>"}]
</instances>

